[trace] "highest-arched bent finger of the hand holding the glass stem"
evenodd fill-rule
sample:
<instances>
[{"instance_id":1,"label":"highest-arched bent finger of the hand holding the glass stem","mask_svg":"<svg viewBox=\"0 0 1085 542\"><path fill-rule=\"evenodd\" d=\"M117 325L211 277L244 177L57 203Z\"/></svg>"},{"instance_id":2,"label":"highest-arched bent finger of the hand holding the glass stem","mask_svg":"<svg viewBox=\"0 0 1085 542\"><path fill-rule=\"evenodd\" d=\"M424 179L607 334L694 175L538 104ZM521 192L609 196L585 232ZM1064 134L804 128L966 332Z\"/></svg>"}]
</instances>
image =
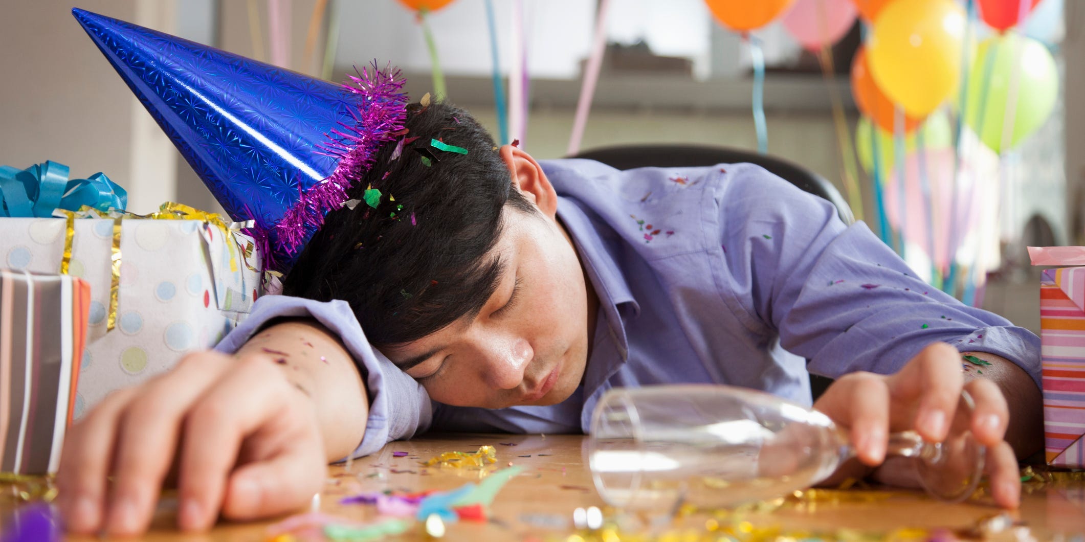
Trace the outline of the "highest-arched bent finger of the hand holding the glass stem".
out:
<instances>
[{"instance_id":1,"label":"highest-arched bent finger of the hand holding the glass stem","mask_svg":"<svg viewBox=\"0 0 1085 542\"><path fill-rule=\"evenodd\" d=\"M945 439L960 401L963 376L960 353L944 343L934 343L890 378L894 400L918 400L914 427L923 439Z\"/></svg>"}]
</instances>

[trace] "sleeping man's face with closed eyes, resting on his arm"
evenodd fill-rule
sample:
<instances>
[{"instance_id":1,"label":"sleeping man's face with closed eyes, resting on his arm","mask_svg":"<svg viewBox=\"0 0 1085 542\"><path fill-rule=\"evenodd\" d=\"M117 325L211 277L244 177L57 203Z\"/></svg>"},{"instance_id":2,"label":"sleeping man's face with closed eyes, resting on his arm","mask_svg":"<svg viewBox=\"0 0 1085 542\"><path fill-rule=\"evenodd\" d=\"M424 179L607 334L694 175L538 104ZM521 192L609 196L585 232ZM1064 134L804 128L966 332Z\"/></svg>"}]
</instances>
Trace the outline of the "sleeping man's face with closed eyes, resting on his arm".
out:
<instances>
[{"instance_id":1,"label":"sleeping man's face with closed eyes, resting on his arm","mask_svg":"<svg viewBox=\"0 0 1085 542\"><path fill-rule=\"evenodd\" d=\"M507 208L505 221L494 251L503 274L478 314L382 349L399 366L421 359L407 374L435 401L556 404L584 375L598 302L569 236L553 216Z\"/></svg>"}]
</instances>

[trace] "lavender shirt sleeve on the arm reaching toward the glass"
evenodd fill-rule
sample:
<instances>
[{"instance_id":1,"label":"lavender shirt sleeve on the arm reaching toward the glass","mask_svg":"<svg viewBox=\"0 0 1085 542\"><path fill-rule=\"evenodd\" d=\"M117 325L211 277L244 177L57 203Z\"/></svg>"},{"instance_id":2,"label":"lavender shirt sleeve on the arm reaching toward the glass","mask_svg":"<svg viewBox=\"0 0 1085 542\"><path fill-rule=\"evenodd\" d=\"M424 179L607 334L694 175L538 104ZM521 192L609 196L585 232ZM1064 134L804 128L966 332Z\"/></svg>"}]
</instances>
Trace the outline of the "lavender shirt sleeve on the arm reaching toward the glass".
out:
<instances>
[{"instance_id":1,"label":"lavender shirt sleeve on the arm reaching toward the glass","mask_svg":"<svg viewBox=\"0 0 1085 542\"><path fill-rule=\"evenodd\" d=\"M927 284L829 202L756 166L730 170L720 198L727 266L748 278L755 318L812 373L895 373L941 340L1001 356L1039 385L1035 334Z\"/></svg>"}]
</instances>

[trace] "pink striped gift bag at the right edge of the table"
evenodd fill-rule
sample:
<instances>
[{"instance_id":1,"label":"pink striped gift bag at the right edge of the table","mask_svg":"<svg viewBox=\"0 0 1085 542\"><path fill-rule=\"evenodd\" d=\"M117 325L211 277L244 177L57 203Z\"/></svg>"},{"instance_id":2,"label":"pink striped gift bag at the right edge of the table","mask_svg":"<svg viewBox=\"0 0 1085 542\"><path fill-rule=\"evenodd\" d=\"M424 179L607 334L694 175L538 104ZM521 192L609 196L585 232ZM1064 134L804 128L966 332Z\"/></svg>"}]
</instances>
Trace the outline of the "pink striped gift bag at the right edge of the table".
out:
<instances>
[{"instance_id":1,"label":"pink striped gift bag at the right edge of the table","mask_svg":"<svg viewBox=\"0 0 1085 542\"><path fill-rule=\"evenodd\" d=\"M1029 247L1039 283L1047 463L1085 467L1085 247ZM1073 267L1071 267L1073 266Z\"/></svg>"}]
</instances>

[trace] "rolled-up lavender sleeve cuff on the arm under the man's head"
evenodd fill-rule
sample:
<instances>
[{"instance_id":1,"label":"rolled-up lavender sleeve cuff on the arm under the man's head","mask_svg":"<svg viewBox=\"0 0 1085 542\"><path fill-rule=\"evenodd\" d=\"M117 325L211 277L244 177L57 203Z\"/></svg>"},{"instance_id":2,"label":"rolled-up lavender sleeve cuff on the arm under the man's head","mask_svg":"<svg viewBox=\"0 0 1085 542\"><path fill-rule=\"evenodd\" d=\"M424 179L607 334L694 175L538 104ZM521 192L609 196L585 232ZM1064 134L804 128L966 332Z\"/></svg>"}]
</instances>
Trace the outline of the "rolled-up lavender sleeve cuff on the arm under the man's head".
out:
<instances>
[{"instance_id":1,"label":"rolled-up lavender sleeve cuff on the arm under the man's head","mask_svg":"<svg viewBox=\"0 0 1085 542\"><path fill-rule=\"evenodd\" d=\"M366 434L353 457L369 455L387 442L411 438L429 428L432 412L425 388L369 345L346 301L322 302L282 295L264 296L253 305L252 314L215 349L226 353L238 351L266 323L277 318L311 318L320 322L340 337L365 375L369 391L369 418Z\"/></svg>"}]
</instances>

